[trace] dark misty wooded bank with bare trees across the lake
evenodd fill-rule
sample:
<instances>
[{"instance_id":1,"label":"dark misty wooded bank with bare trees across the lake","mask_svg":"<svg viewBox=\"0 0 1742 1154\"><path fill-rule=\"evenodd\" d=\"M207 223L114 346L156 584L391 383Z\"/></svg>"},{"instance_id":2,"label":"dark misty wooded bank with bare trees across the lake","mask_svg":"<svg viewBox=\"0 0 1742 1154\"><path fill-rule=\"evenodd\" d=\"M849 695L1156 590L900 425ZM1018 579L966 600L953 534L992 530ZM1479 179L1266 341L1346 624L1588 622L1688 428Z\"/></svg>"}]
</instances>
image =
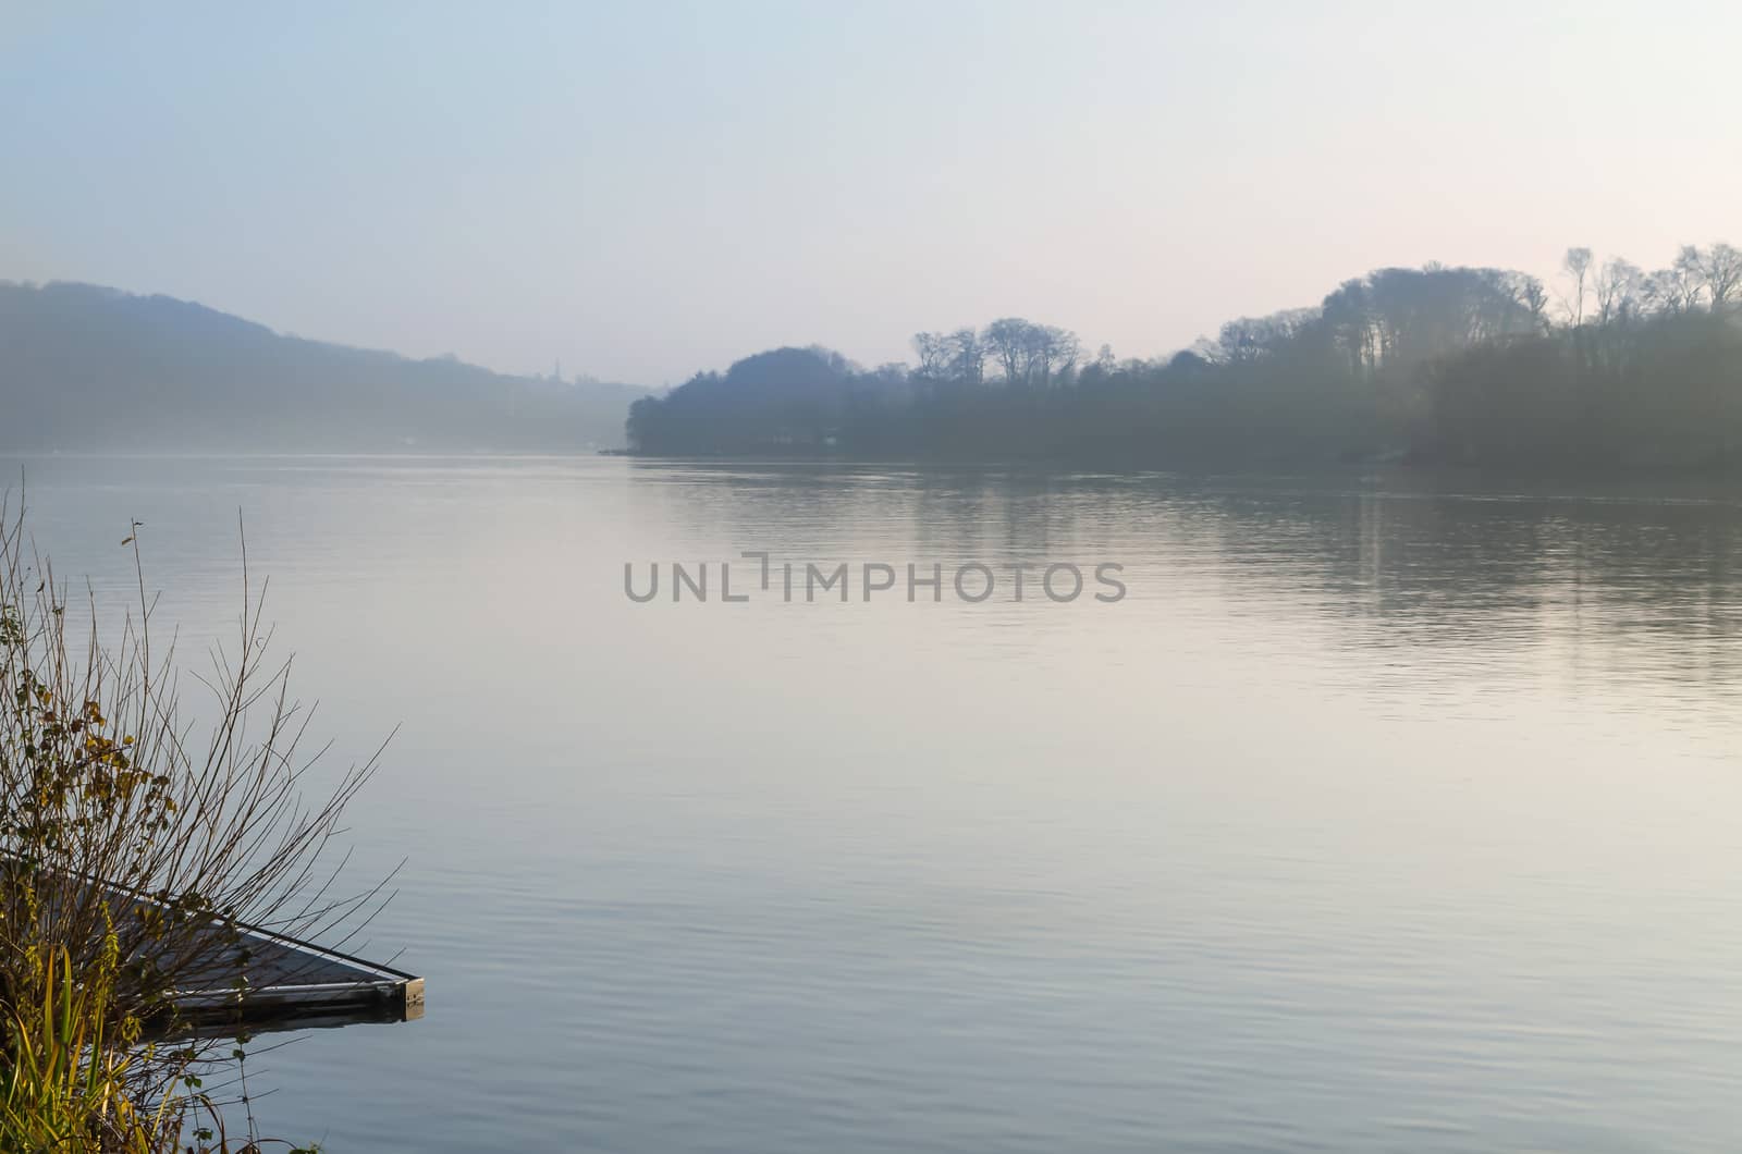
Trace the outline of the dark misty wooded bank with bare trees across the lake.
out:
<instances>
[{"instance_id":1,"label":"dark misty wooded bank with bare trees across the lake","mask_svg":"<svg viewBox=\"0 0 1742 1154\"><path fill-rule=\"evenodd\" d=\"M913 349L915 364L871 370L814 345L697 373L631 406L629 453L1742 469L1742 251L1725 242L1655 272L1568 249L1552 288L1380 268L1157 359L1085 356L1075 333L1019 317Z\"/></svg>"}]
</instances>

